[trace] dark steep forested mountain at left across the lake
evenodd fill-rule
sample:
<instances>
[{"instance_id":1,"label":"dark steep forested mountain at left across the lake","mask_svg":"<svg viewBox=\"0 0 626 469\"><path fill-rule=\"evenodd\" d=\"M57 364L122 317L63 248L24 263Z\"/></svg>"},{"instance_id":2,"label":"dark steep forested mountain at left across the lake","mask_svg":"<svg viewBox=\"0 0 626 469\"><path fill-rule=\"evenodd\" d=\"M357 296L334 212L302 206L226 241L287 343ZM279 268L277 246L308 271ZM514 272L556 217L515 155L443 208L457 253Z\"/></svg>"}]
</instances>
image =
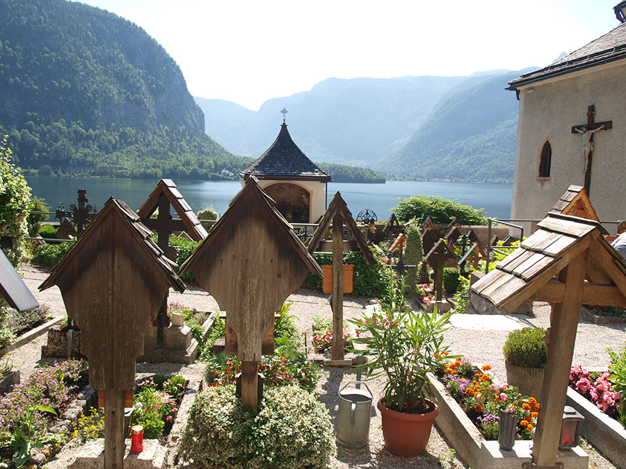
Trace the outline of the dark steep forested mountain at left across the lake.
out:
<instances>
[{"instance_id":1,"label":"dark steep forested mountain at left across the lake","mask_svg":"<svg viewBox=\"0 0 626 469\"><path fill-rule=\"evenodd\" d=\"M218 178L250 160L204 133L175 61L125 19L65 0L0 0L0 133L40 174Z\"/></svg>"}]
</instances>

